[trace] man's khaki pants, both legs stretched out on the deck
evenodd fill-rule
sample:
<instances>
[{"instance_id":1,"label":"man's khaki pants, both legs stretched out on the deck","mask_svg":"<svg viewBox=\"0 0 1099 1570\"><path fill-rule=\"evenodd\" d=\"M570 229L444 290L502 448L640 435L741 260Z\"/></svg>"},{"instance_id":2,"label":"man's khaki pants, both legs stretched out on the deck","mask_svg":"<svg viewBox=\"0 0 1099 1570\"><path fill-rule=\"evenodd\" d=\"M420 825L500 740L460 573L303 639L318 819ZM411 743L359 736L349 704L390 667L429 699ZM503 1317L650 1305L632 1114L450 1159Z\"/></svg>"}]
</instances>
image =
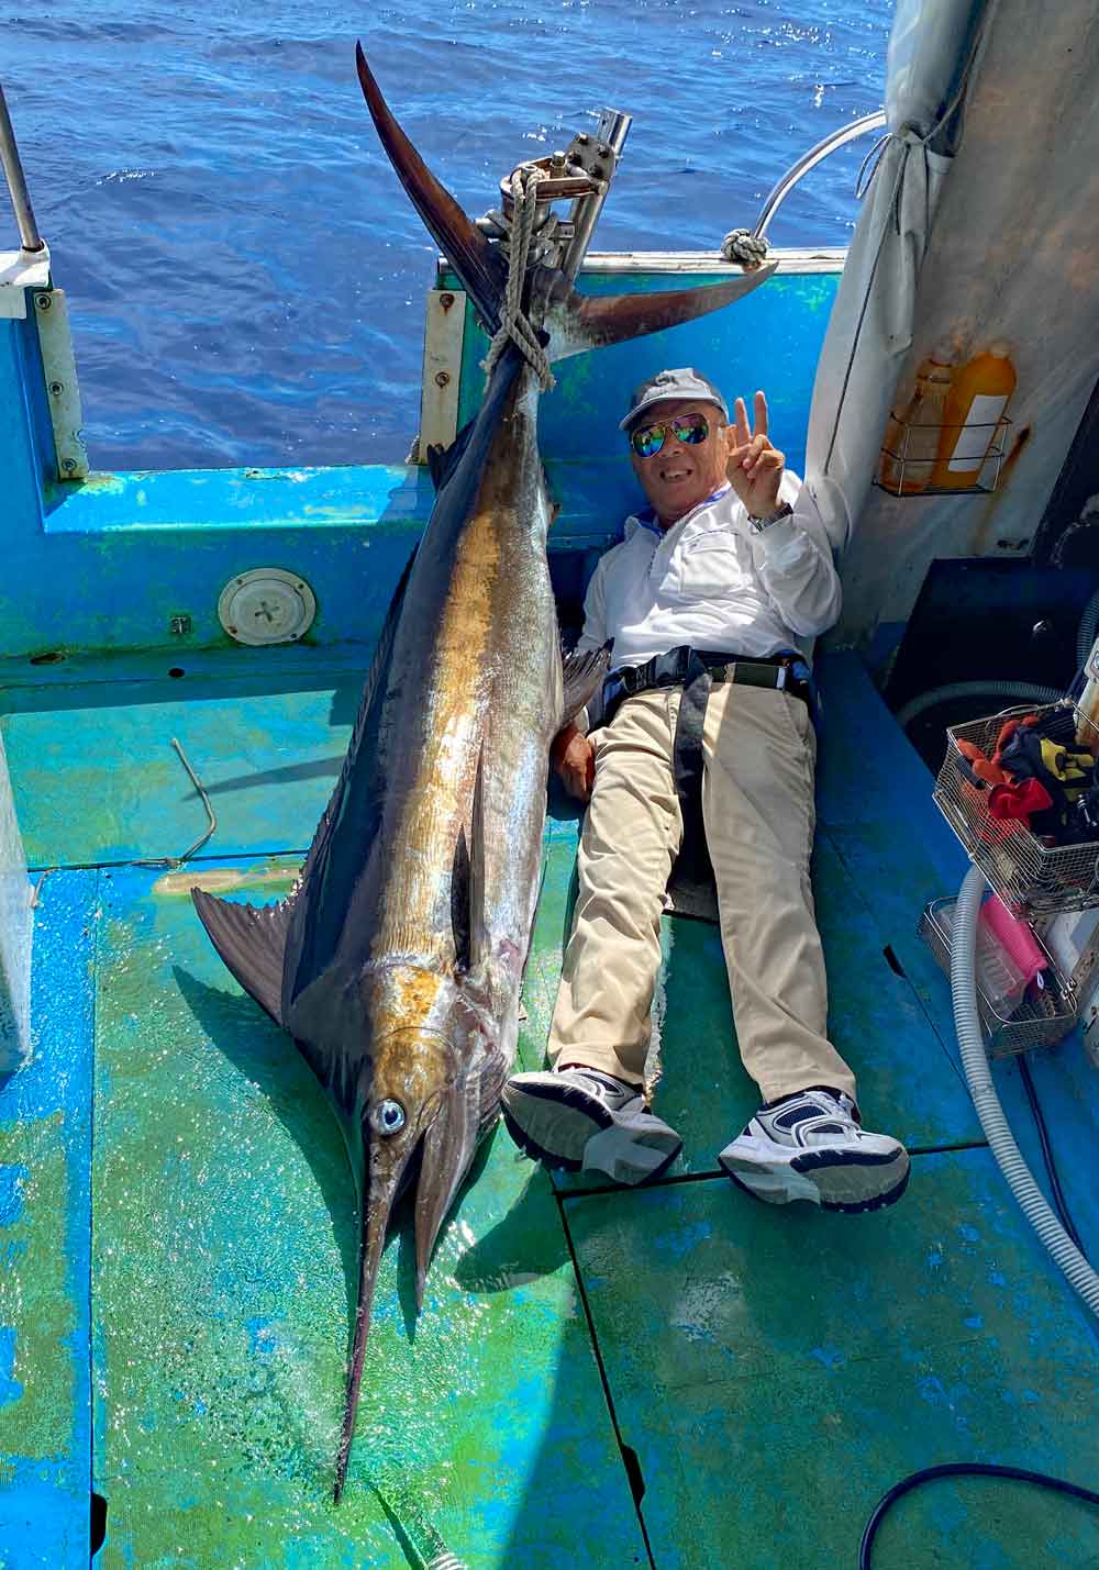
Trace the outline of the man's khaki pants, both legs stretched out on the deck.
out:
<instances>
[{"instance_id":1,"label":"man's khaki pants, both legs stretched out on the deck","mask_svg":"<svg viewBox=\"0 0 1099 1570\"><path fill-rule=\"evenodd\" d=\"M593 732L595 791L579 895L550 1030L550 1058L642 1085L661 962L659 920L683 820L672 779L680 689L628 699ZM827 1085L854 1097L829 1042L813 917L816 738L785 692L714 683L703 728L702 812L744 1068L765 1101Z\"/></svg>"}]
</instances>

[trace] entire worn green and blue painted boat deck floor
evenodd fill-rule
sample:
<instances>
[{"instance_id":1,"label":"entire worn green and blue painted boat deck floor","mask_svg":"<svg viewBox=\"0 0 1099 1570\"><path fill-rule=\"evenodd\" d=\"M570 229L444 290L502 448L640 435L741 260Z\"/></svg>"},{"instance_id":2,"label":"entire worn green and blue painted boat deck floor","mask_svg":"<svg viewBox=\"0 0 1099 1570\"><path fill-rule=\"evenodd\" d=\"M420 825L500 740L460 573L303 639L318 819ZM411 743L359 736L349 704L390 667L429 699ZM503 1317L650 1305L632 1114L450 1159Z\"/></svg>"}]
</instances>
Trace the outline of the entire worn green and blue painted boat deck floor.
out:
<instances>
[{"instance_id":1,"label":"entire worn green and blue painted boat deck floor","mask_svg":"<svg viewBox=\"0 0 1099 1570\"><path fill-rule=\"evenodd\" d=\"M498 1130L413 1319L405 1225L383 1261L344 1502L331 1506L356 1229L336 1124L231 981L188 900L286 893L361 672L267 688L135 667L9 689L28 857L36 1055L0 1090L0 1565L710 1570L856 1562L865 1518L940 1462L1099 1471L1094 1327L983 1141L948 986L917 937L962 853L854 656L821 661L816 895L831 1030L867 1121L912 1151L904 1199L834 1217L754 1203L716 1151L755 1090L713 928L666 923L659 1110L685 1137L644 1190L551 1181ZM119 691L124 700L119 702ZM204 827L176 736L218 813ZM539 1066L578 821L556 804L526 981ZM1033 1057L1061 1179L1099 1259L1096 1079ZM995 1077L1044 1181L1011 1061ZM407 1220L407 1217L405 1217ZM876 1562L1094 1567L1099 1521L995 1481L934 1484Z\"/></svg>"}]
</instances>

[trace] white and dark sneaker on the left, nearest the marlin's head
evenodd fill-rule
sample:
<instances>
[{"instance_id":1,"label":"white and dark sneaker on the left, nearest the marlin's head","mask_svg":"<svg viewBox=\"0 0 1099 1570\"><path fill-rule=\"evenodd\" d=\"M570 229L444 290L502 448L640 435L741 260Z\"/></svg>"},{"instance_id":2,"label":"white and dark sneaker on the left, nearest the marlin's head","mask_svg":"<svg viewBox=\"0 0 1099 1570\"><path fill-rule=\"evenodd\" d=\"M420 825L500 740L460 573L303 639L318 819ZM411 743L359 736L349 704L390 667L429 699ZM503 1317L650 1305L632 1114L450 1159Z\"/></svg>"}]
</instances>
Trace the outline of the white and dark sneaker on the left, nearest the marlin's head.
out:
<instances>
[{"instance_id":1,"label":"white and dark sneaker on the left, nearest the marlin's head","mask_svg":"<svg viewBox=\"0 0 1099 1570\"><path fill-rule=\"evenodd\" d=\"M634 1185L659 1178L683 1148L636 1085L598 1069L513 1074L501 1099L507 1132L546 1167Z\"/></svg>"}]
</instances>

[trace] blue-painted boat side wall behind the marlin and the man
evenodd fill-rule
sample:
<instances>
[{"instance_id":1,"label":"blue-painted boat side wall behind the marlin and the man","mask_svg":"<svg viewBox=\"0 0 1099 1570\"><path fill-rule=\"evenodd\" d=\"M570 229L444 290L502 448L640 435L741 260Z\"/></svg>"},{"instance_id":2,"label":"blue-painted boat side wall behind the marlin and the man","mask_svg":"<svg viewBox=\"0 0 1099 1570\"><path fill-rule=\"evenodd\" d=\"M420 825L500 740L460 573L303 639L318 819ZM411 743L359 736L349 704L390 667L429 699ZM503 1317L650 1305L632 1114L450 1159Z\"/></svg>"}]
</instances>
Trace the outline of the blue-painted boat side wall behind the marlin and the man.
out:
<instances>
[{"instance_id":1,"label":"blue-painted boat side wall behind the marlin and the man","mask_svg":"<svg viewBox=\"0 0 1099 1570\"><path fill-rule=\"evenodd\" d=\"M630 388L653 371L694 364L730 399L765 388L774 436L791 466L801 466L842 265L842 251L782 253L777 275L725 311L557 367L557 388L542 402L542 451L560 502L551 553L565 614L578 614L595 554L637 504L617 422ZM727 273L717 256L601 257L581 287L685 287ZM0 460L14 476L0 524L8 681L13 670L20 681L49 680L72 658L137 650L160 652L168 669L182 669L198 652L217 653L225 669L240 672L279 661L300 667L312 650L374 642L432 510L425 468L93 469L58 480L28 327L0 322ZM463 333L457 419L471 414L484 388L477 339L473 327ZM78 342L75 350L78 364ZM414 424L410 408L410 440ZM242 647L218 619L226 586L261 567L298 576L316 597L316 620L290 645Z\"/></svg>"}]
</instances>

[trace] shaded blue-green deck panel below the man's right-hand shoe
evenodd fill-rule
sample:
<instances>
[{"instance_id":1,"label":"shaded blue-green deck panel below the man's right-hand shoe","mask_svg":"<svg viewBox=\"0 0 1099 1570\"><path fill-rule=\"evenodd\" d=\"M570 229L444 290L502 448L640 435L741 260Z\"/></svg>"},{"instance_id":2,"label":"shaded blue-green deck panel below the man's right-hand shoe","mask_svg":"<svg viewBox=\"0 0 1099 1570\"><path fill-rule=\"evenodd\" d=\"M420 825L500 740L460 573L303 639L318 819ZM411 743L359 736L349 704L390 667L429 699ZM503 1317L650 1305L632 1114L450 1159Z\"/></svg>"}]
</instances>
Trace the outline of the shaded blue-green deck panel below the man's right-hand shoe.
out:
<instances>
[{"instance_id":1,"label":"shaded blue-green deck panel below the man's right-hand shoe","mask_svg":"<svg viewBox=\"0 0 1099 1570\"><path fill-rule=\"evenodd\" d=\"M904 1199L860 1218L725 1179L565 1214L661 1570L854 1564L878 1498L939 1462L1091 1485L1094 1336L988 1149L917 1156ZM906 1501L879 1548L882 1567L1096 1562L1094 1512L988 1482Z\"/></svg>"}]
</instances>

